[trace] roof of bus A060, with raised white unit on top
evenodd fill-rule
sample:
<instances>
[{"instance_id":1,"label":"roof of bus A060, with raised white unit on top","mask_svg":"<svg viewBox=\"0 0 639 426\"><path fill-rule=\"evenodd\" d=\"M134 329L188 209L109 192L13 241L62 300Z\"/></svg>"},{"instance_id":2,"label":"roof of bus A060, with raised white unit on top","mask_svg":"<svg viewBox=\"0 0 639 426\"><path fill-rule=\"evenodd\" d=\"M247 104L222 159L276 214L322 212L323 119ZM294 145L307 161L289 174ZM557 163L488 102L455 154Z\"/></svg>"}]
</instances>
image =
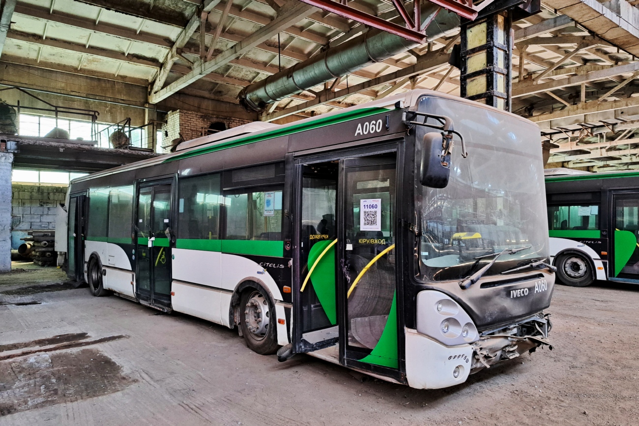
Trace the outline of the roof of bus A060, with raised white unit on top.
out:
<instances>
[{"instance_id":1,"label":"roof of bus A060, with raised white unit on top","mask_svg":"<svg viewBox=\"0 0 639 426\"><path fill-rule=\"evenodd\" d=\"M100 178L102 176L107 176L114 172L130 171L134 169L139 169L141 167L149 167L155 164L173 162L176 160L181 160L183 158L190 158L192 156L203 155L203 154L214 152L214 151L220 151L221 149L233 148L233 146L240 146L244 144L265 141L266 139L273 139L275 137L281 137L281 136L291 135L294 133L300 133L300 132L304 132L305 130L312 130L314 128L319 128L323 126L330 126L330 125L335 125L339 123L344 123L346 121L351 121L353 119L365 118L367 116L379 114L380 112L383 112L385 110L412 107L417 102L417 99L420 96L424 96L424 95L429 95L434 98L454 100L456 102L469 103L469 104L472 104L474 107L489 109L493 112L499 112L500 114L511 116L514 119L518 119L518 120L533 124L532 121L529 121L528 119L525 119L521 116L517 116L516 114L512 114L511 112L499 110L494 107L489 107L488 105L483 105L481 103L474 102L472 100L459 98L458 96L447 95L441 92L436 92L436 91L431 91L426 89L417 89L417 90L401 93L399 95L388 96L380 100L362 103L360 105L348 107L343 110L329 112L328 114L321 114L320 116L309 117L299 121L293 121L293 123L288 123L286 125L265 126L263 130L258 130L258 131L254 131L250 133L240 132L240 134L237 134L237 130L234 131L235 128L231 128L229 130L224 130L223 132L215 133L215 138L211 138L211 139L215 139L213 141L210 141L210 142L202 141L203 144L195 144L196 146L192 146L190 144L191 141L183 142L187 144L187 146L192 146L192 148L182 149L179 152L160 155L155 158L150 158L148 160L142 160L142 161L127 164L127 165L114 167L113 169L95 172L95 173L89 174L88 176L82 176L80 178L73 179L73 182L82 182L86 180ZM233 134L233 132L235 132L235 135ZM226 135L229 135L229 134L231 134L232 137L226 137ZM194 139L193 141L197 141L199 139L204 139L204 138Z\"/></svg>"}]
</instances>

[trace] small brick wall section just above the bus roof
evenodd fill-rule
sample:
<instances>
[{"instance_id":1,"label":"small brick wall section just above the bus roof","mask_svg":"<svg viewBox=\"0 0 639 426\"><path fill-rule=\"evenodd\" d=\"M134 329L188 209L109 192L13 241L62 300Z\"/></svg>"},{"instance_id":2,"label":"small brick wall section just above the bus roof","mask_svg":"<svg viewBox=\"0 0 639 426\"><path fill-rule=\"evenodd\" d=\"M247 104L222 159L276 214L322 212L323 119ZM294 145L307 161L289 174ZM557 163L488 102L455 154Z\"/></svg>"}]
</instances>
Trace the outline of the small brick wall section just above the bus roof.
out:
<instances>
[{"instance_id":1,"label":"small brick wall section just above the bus roof","mask_svg":"<svg viewBox=\"0 0 639 426\"><path fill-rule=\"evenodd\" d=\"M204 132L212 123L218 121L226 124L226 128L233 128L251 122L243 118L201 114L184 109L169 111L166 115L166 125L162 126L162 148L170 148L171 141L180 137L180 133L182 133L185 141L201 137L206 134Z\"/></svg>"}]
</instances>

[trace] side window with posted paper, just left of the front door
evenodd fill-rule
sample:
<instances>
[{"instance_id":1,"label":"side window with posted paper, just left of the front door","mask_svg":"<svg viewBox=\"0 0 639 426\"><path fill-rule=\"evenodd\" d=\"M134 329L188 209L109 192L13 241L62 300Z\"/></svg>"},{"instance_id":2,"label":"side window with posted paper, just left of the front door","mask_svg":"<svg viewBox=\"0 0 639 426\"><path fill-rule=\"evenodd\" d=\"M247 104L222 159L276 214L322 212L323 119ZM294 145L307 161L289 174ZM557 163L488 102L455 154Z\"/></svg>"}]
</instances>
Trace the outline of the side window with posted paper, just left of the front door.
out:
<instances>
[{"instance_id":1,"label":"side window with posted paper, just left of the front door","mask_svg":"<svg viewBox=\"0 0 639 426\"><path fill-rule=\"evenodd\" d=\"M282 240L282 190L225 194L227 240Z\"/></svg>"}]
</instances>

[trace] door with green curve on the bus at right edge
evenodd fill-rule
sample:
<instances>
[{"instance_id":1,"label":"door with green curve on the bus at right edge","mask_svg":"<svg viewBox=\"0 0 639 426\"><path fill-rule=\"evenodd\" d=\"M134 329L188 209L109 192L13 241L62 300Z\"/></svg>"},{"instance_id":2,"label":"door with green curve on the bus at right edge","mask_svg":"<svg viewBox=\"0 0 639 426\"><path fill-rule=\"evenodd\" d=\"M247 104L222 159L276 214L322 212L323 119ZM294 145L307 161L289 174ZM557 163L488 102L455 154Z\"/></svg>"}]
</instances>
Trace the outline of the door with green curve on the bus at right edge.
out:
<instances>
[{"instance_id":1,"label":"door with green curve on the bus at right edge","mask_svg":"<svg viewBox=\"0 0 639 426\"><path fill-rule=\"evenodd\" d=\"M639 279L639 193L613 194L610 277Z\"/></svg>"}]
</instances>

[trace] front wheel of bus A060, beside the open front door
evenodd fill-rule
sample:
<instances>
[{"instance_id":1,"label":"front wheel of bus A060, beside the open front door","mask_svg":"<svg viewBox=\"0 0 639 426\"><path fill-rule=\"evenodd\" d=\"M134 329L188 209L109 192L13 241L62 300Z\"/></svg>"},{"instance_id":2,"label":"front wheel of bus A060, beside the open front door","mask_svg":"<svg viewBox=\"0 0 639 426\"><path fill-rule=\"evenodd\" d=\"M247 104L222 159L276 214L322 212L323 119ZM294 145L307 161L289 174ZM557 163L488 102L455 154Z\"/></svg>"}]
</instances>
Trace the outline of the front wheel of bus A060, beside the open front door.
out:
<instances>
[{"instance_id":1,"label":"front wheel of bus A060, beside the open front door","mask_svg":"<svg viewBox=\"0 0 639 426\"><path fill-rule=\"evenodd\" d=\"M248 287L240 296L240 328L246 346L252 351L268 355L277 351L275 305L268 293L256 285Z\"/></svg>"}]
</instances>

